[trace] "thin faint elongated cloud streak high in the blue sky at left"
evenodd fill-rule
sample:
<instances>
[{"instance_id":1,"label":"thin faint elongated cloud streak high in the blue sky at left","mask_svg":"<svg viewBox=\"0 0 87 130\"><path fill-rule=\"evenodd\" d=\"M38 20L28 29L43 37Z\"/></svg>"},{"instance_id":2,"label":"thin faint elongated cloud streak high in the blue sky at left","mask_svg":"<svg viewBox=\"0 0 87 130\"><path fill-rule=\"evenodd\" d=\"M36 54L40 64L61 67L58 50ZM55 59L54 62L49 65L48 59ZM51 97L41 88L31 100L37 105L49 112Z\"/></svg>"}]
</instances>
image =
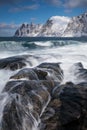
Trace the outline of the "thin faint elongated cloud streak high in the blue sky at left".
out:
<instances>
[{"instance_id":1,"label":"thin faint elongated cloud streak high in the blue sky at left","mask_svg":"<svg viewBox=\"0 0 87 130\"><path fill-rule=\"evenodd\" d=\"M21 6L21 7L15 7L10 9L10 12L21 12L21 11L26 11L26 10L36 10L39 8L38 4L33 4L29 6Z\"/></svg>"}]
</instances>

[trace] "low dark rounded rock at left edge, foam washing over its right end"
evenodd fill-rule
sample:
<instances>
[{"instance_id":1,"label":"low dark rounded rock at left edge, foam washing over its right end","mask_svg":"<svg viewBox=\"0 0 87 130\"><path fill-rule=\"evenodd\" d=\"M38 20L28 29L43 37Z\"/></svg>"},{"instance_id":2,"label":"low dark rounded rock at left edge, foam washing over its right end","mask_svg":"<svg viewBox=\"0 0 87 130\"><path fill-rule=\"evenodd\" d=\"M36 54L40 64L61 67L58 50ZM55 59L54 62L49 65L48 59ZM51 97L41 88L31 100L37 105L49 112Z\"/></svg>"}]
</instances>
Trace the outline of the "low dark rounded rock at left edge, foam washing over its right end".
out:
<instances>
[{"instance_id":1,"label":"low dark rounded rock at left edge, foam washing over its right end","mask_svg":"<svg viewBox=\"0 0 87 130\"><path fill-rule=\"evenodd\" d=\"M25 67L26 65L33 66L33 60L39 61L40 57L33 55L20 55L0 59L0 69L17 70Z\"/></svg>"}]
</instances>

